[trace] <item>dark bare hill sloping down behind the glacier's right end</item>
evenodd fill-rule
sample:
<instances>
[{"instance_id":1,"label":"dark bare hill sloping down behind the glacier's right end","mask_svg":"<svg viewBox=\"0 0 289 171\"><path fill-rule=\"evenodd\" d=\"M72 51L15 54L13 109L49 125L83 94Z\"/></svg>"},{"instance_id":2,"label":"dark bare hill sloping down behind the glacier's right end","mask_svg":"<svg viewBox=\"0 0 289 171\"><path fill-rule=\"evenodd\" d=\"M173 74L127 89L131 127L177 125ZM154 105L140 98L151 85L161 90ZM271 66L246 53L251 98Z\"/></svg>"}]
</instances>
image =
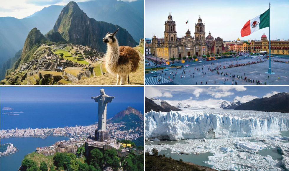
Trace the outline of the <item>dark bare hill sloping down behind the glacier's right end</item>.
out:
<instances>
[{"instance_id":1,"label":"dark bare hill sloping down behind the glacier's right end","mask_svg":"<svg viewBox=\"0 0 289 171\"><path fill-rule=\"evenodd\" d=\"M234 110L253 110L265 112L289 112L289 93L278 93L271 97L255 98L237 106Z\"/></svg>"}]
</instances>

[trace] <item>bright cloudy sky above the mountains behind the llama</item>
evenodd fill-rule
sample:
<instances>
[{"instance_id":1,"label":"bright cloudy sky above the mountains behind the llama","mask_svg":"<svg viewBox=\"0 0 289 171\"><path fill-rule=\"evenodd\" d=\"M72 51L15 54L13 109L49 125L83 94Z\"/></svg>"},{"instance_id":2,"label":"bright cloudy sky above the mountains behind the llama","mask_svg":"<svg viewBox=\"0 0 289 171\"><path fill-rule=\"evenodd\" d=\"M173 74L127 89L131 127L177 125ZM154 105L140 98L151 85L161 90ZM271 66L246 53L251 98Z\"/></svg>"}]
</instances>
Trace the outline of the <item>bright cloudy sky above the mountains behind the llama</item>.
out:
<instances>
[{"instance_id":1,"label":"bright cloudy sky above the mountains behind the llama","mask_svg":"<svg viewBox=\"0 0 289 171\"><path fill-rule=\"evenodd\" d=\"M1 0L0 17L15 17L22 19L40 11L50 5L66 5L72 0ZM77 0L75 2L85 2L91 0ZM119 0L118 0L119 1ZM136 1L136 0L122 0Z\"/></svg>"}]
</instances>

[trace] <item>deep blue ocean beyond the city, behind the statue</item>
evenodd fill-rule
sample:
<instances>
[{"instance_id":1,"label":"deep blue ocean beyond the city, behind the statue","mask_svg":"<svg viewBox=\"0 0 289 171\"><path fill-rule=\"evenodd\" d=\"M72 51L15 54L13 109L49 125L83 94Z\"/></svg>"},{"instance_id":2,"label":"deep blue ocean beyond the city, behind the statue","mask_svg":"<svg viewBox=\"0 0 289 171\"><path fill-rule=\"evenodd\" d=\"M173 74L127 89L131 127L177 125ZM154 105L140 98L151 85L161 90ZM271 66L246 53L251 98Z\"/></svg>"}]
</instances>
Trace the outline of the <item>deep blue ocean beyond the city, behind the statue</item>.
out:
<instances>
[{"instance_id":1,"label":"deep blue ocean beyond the city, behind the statue","mask_svg":"<svg viewBox=\"0 0 289 171\"><path fill-rule=\"evenodd\" d=\"M113 117L128 106L136 108L144 114L144 103L108 103L106 118ZM2 110L3 107L14 109ZM95 124L97 121L98 103L93 99L91 102L1 102L0 129L87 126Z\"/></svg>"}]
</instances>

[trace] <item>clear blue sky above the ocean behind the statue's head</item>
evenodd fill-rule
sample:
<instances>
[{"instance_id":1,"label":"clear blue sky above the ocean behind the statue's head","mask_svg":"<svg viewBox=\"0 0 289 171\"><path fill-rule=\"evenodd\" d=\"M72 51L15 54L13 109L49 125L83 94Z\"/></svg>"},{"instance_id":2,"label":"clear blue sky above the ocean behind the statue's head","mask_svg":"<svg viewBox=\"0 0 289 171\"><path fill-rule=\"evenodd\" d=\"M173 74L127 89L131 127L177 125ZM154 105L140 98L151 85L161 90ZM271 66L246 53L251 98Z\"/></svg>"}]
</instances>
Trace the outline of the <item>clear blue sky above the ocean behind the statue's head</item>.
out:
<instances>
[{"instance_id":1,"label":"clear blue sky above the ocean behind the statue's head","mask_svg":"<svg viewBox=\"0 0 289 171\"><path fill-rule=\"evenodd\" d=\"M1 86L0 101L92 101L103 88L114 102L144 102L144 87L97 86Z\"/></svg>"}]
</instances>

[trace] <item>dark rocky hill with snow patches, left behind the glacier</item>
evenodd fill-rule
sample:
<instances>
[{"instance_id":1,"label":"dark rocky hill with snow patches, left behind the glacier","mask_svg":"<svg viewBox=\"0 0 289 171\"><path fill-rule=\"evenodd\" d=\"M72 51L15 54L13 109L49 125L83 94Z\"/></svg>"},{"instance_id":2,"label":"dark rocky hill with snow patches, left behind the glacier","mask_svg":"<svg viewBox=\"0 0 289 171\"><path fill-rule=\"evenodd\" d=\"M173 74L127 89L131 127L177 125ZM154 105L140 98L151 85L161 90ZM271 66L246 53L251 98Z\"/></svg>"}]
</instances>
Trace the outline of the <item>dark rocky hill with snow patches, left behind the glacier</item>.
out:
<instances>
[{"instance_id":1,"label":"dark rocky hill with snow patches, left behind the glacier","mask_svg":"<svg viewBox=\"0 0 289 171\"><path fill-rule=\"evenodd\" d=\"M155 103L155 101L159 101L159 103ZM181 111L181 109L176 108L175 106L171 106L168 102L155 99L155 98L147 98L145 97L145 113L153 111L162 111L162 112L169 112L171 110L173 111Z\"/></svg>"}]
</instances>

